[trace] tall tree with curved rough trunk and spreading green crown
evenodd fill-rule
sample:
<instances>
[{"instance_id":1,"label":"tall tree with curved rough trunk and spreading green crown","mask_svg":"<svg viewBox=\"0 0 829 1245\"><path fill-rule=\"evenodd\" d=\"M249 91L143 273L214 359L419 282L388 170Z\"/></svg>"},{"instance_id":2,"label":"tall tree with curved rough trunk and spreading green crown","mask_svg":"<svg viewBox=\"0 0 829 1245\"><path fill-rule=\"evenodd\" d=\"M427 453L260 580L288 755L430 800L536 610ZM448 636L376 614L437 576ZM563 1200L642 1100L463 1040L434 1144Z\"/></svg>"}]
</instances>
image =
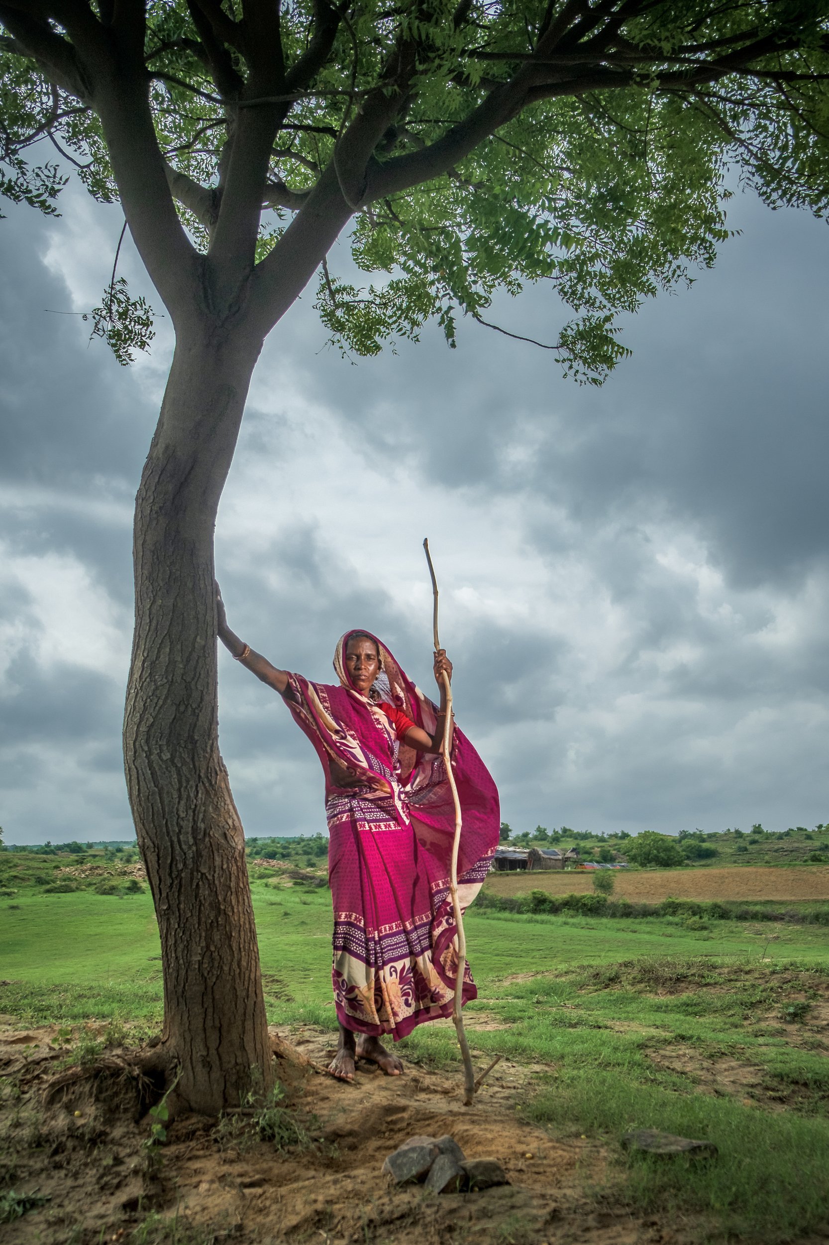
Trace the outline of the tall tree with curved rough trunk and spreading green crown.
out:
<instances>
[{"instance_id":1,"label":"tall tree with curved rough trunk and spreading green crown","mask_svg":"<svg viewBox=\"0 0 829 1245\"><path fill-rule=\"evenodd\" d=\"M824 0L0 0L1 188L57 163L119 200L176 350L136 503L129 799L156 901L164 1050L199 1111L270 1077L243 833L217 738L213 529L263 341L315 273L346 351L488 324L548 280L549 346L599 382L615 320L710 266L729 166L829 194ZM47 148L50 149L50 148ZM357 289L327 269L350 230ZM500 331L508 331L498 326ZM122 360L149 309L113 280ZM539 332L540 336L540 332Z\"/></svg>"}]
</instances>

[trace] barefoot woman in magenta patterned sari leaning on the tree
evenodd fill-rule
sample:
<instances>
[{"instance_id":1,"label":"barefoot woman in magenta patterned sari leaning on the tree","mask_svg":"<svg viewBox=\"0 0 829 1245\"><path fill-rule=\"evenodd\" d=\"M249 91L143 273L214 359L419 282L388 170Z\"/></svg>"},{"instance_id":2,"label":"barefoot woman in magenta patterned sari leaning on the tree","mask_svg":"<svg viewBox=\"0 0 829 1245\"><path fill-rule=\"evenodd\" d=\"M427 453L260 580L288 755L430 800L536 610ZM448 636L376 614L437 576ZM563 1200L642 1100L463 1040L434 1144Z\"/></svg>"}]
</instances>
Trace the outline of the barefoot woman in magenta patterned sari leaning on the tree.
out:
<instances>
[{"instance_id":1,"label":"barefoot woman in magenta patterned sari leaning on the tree","mask_svg":"<svg viewBox=\"0 0 829 1245\"><path fill-rule=\"evenodd\" d=\"M334 655L339 684L312 684L278 670L229 629L218 594L219 637L237 661L278 691L307 735L325 773L329 876L334 900L334 1000L340 1023L329 1071L354 1081L355 1059L397 1076L385 1048L417 1025L452 1013L457 974L449 896L454 804L439 756L441 703L416 687L380 640L346 631ZM452 767L463 809L458 890L467 908L498 844L498 792L478 753L452 730ZM477 997L469 967L463 1002Z\"/></svg>"}]
</instances>

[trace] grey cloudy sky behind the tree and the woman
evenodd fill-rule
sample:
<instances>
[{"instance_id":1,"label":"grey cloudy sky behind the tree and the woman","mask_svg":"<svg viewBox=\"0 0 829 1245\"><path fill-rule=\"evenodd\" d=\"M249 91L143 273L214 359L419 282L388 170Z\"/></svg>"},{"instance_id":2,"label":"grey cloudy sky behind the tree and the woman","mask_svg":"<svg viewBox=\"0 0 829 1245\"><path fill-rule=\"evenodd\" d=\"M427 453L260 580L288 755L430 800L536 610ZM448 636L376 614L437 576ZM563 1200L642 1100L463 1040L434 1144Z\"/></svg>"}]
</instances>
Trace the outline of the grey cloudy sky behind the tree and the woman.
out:
<instances>
[{"instance_id":1,"label":"grey cloudy sky behind the tree and the woman","mask_svg":"<svg viewBox=\"0 0 829 1245\"><path fill-rule=\"evenodd\" d=\"M131 512L169 329L129 370L88 344L117 208L4 210L0 824L131 838ZM829 820L829 230L748 194L729 224L599 390L472 324L351 366L310 293L259 364L217 533L232 626L322 681L367 627L428 686L428 535L458 721L515 829ZM121 271L159 306L128 243ZM498 315L561 322L546 290ZM248 834L325 829L310 746L225 654L220 728Z\"/></svg>"}]
</instances>

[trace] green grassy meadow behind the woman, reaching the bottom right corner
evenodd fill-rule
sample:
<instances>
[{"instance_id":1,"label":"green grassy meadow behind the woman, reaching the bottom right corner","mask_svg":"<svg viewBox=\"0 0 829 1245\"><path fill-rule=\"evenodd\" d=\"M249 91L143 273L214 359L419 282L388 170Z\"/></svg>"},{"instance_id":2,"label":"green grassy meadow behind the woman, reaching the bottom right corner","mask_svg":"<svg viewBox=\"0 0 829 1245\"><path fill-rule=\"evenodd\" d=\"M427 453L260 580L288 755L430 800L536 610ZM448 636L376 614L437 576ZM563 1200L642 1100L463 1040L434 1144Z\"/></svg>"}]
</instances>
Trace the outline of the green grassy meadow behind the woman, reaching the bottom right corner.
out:
<instances>
[{"instance_id":1,"label":"green grassy meadow behind the woman, reaching the bottom right corner","mask_svg":"<svg viewBox=\"0 0 829 1245\"><path fill-rule=\"evenodd\" d=\"M268 1010L334 1031L330 894L253 880ZM473 908L477 1062L532 1066L519 1109L611 1162L601 1201L696 1215L700 1239L787 1241L827 1225L829 931L797 921L610 920ZM149 895L22 886L0 901L0 1012L20 1026L161 1020ZM487 1027L475 1026L485 1013ZM411 1063L457 1063L448 1026L401 1043ZM629 1157L624 1132L712 1140L712 1162Z\"/></svg>"}]
</instances>

